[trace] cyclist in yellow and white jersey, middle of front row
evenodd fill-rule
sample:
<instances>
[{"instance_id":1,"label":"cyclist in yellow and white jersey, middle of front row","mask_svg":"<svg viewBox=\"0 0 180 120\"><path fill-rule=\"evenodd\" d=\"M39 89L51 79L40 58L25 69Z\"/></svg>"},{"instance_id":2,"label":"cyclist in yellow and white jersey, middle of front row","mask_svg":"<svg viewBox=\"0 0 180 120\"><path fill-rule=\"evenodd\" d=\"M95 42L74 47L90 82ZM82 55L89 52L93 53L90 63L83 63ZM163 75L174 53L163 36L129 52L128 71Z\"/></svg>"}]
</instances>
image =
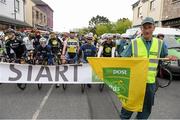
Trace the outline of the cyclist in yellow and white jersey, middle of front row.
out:
<instances>
[{"instance_id":1,"label":"cyclist in yellow and white jersey, middle of front row","mask_svg":"<svg viewBox=\"0 0 180 120\"><path fill-rule=\"evenodd\" d=\"M75 36L75 32L71 31L69 38L64 41L62 59L65 58L67 63L77 63L79 51L79 41Z\"/></svg>"}]
</instances>

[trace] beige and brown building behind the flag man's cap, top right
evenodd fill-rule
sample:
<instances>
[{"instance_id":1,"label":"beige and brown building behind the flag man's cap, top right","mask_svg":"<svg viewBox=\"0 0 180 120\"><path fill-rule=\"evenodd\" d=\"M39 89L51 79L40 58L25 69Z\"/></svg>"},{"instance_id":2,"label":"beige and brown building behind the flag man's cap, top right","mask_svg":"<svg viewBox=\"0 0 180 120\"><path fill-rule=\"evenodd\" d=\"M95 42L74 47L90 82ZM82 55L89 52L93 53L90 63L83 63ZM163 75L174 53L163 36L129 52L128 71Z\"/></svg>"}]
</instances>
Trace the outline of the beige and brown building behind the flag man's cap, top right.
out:
<instances>
[{"instance_id":1,"label":"beige and brown building behind the flag man's cap, top right","mask_svg":"<svg viewBox=\"0 0 180 120\"><path fill-rule=\"evenodd\" d=\"M133 27L152 17L158 27L180 28L180 0L138 0L133 7Z\"/></svg>"}]
</instances>

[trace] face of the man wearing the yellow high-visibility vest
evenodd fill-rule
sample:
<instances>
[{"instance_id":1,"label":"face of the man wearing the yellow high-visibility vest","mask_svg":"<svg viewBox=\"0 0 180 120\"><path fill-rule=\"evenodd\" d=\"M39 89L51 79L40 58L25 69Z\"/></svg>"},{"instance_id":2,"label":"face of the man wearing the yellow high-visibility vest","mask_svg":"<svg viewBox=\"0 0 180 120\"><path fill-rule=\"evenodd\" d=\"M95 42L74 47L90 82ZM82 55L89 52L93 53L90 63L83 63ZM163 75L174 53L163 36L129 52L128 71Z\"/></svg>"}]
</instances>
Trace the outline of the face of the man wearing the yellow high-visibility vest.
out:
<instances>
[{"instance_id":1,"label":"face of the man wearing the yellow high-visibility vest","mask_svg":"<svg viewBox=\"0 0 180 120\"><path fill-rule=\"evenodd\" d=\"M153 24L147 23L141 27L142 34L144 38L150 39L154 32L155 26Z\"/></svg>"}]
</instances>

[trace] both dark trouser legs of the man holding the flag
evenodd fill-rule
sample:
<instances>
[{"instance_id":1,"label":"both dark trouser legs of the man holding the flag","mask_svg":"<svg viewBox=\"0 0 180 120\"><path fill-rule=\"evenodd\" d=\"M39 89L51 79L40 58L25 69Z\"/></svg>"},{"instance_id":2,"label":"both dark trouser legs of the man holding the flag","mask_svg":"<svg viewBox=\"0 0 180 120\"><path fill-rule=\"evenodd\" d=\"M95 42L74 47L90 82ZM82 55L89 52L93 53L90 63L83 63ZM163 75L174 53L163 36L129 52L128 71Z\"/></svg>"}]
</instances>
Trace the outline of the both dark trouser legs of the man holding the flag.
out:
<instances>
[{"instance_id":1,"label":"both dark trouser legs of the man holding the flag","mask_svg":"<svg viewBox=\"0 0 180 120\"><path fill-rule=\"evenodd\" d=\"M144 105L143 111L138 112L136 119L148 119L151 114L152 106L154 105L154 95L155 95L155 84L147 84L145 98L144 98ZM121 119L130 119L133 112L128 111L124 108L121 110Z\"/></svg>"}]
</instances>

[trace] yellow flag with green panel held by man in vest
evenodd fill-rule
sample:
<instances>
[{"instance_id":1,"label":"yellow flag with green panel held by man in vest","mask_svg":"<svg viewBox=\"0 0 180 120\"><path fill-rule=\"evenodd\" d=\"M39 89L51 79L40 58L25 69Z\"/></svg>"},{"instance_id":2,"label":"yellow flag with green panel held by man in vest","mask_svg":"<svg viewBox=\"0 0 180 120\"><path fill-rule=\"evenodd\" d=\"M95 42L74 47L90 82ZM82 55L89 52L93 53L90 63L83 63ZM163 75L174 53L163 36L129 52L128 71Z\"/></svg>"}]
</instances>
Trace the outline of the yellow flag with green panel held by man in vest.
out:
<instances>
[{"instance_id":1,"label":"yellow flag with green panel held by man in vest","mask_svg":"<svg viewBox=\"0 0 180 120\"><path fill-rule=\"evenodd\" d=\"M88 58L97 76L118 96L129 111L142 112L149 59Z\"/></svg>"}]
</instances>

